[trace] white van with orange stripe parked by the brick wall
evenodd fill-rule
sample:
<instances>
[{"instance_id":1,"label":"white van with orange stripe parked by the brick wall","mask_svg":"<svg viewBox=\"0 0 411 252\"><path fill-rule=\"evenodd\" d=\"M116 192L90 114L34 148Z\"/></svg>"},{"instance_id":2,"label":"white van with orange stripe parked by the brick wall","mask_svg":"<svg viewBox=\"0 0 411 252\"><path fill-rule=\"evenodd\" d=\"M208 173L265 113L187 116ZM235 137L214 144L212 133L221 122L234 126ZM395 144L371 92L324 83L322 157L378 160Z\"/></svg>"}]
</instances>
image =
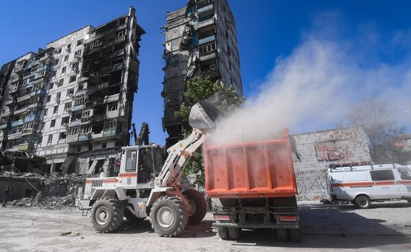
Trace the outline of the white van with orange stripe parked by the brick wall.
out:
<instances>
[{"instance_id":1,"label":"white van with orange stripe parked by the brick wall","mask_svg":"<svg viewBox=\"0 0 411 252\"><path fill-rule=\"evenodd\" d=\"M400 164L331 167L331 199L368 208L371 201L406 199L411 203L411 169Z\"/></svg>"}]
</instances>

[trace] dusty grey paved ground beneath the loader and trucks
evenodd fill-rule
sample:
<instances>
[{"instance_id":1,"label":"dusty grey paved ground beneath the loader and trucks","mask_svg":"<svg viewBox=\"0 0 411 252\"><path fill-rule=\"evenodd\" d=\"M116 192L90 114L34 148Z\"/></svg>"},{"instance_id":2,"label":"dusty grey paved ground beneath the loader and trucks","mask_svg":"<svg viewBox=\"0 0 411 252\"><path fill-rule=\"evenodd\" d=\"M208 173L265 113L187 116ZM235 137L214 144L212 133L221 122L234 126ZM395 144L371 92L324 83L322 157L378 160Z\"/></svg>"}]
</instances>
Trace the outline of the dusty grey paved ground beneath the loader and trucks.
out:
<instances>
[{"instance_id":1,"label":"dusty grey paved ground beneath the loader and trucks","mask_svg":"<svg viewBox=\"0 0 411 252\"><path fill-rule=\"evenodd\" d=\"M352 205L301 202L303 240L279 242L268 229L243 231L238 241L220 240L207 215L178 238L160 238L149 220L124 222L114 234L97 234L78 210L0 208L0 251L411 251L411 204ZM60 236L78 231L80 236Z\"/></svg>"}]
</instances>

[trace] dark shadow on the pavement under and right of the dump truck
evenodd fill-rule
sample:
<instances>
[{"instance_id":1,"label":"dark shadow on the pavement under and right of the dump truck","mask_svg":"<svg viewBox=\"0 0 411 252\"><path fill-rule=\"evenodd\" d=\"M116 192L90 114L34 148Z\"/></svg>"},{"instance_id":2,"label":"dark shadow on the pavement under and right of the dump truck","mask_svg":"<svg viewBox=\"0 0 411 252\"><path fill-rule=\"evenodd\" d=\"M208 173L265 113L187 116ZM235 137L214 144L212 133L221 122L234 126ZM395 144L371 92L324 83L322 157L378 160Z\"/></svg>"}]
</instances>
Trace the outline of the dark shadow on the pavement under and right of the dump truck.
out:
<instances>
[{"instance_id":1,"label":"dark shadow on the pavement under and right of the dump truck","mask_svg":"<svg viewBox=\"0 0 411 252\"><path fill-rule=\"evenodd\" d=\"M397 207L405 207L405 204L404 206L399 204ZM362 249L404 244L404 247L411 249L410 238L382 225L381 223L385 223L386 220L365 218L352 212L351 205L323 205L319 203L300 205L299 207L301 242L280 242L273 229L257 229L255 231L243 229L242 238L234 241L233 245ZM392 206L386 205L385 207Z\"/></svg>"}]
</instances>

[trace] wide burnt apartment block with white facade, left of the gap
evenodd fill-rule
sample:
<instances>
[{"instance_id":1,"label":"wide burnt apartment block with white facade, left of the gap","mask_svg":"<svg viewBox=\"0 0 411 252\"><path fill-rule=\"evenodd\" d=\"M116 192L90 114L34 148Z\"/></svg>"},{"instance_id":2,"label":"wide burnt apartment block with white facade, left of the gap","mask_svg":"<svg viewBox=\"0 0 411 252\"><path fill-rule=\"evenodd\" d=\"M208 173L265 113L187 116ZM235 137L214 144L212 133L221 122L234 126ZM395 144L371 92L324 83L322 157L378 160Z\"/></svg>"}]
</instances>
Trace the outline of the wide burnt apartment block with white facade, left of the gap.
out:
<instances>
[{"instance_id":1,"label":"wide burnt apartment block with white facade, left of the gap","mask_svg":"<svg viewBox=\"0 0 411 252\"><path fill-rule=\"evenodd\" d=\"M47 172L113 172L129 144L139 78L134 8L2 66L1 151L45 157Z\"/></svg>"}]
</instances>

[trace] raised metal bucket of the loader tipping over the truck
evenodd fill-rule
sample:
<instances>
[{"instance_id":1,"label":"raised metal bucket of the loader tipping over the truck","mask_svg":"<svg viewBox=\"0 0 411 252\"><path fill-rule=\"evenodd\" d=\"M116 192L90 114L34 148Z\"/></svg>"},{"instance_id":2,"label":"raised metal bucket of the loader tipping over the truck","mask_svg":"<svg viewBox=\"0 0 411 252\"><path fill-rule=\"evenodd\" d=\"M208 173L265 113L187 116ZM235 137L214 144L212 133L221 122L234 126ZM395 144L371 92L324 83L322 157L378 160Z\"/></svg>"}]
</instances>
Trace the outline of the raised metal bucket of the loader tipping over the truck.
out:
<instances>
[{"instance_id":1,"label":"raised metal bucket of the loader tipping over the truck","mask_svg":"<svg viewBox=\"0 0 411 252\"><path fill-rule=\"evenodd\" d=\"M209 101L200 101L191 108L189 124L196 129L211 129L220 114L220 110Z\"/></svg>"}]
</instances>

